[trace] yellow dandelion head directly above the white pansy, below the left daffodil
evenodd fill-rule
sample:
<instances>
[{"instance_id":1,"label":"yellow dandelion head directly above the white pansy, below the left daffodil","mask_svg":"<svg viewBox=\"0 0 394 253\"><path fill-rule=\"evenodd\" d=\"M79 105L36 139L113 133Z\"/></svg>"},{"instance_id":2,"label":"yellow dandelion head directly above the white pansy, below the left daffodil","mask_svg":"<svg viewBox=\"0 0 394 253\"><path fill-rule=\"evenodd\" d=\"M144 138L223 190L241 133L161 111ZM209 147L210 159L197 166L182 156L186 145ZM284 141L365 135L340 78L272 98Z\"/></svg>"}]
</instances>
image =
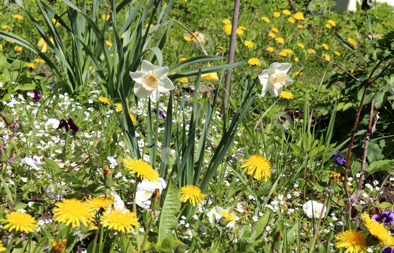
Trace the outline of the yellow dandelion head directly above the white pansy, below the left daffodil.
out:
<instances>
[{"instance_id":1,"label":"yellow dandelion head directly above the white pansy, below the left daffodil","mask_svg":"<svg viewBox=\"0 0 394 253\"><path fill-rule=\"evenodd\" d=\"M159 174L150 166L144 162L142 158L140 160L134 160L131 158L123 159L125 167L129 169L129 173L137 173L136 178L147 179L150 182L159 182Z\"/></svg>"}]
</instances>

